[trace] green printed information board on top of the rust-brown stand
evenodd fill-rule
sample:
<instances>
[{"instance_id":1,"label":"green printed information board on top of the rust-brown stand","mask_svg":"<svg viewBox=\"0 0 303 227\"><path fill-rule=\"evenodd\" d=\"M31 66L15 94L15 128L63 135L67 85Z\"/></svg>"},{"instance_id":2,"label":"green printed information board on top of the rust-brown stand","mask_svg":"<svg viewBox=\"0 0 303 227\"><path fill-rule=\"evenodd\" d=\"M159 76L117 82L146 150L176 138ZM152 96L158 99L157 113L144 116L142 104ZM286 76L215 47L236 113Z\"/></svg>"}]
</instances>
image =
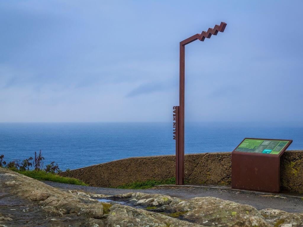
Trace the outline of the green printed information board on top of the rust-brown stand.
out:
<instances>
[{"instance_id":1,"label":"green printed information board on top of the rust-brown stand","mask_svg":"<svg viewBox=\"0 0 303 227\"><path fill-rule=\"evenodd\" d=\"M287 143L288 141L285 140L245 139L235 151L279 154Z\"/></svg>"}]
</instances>

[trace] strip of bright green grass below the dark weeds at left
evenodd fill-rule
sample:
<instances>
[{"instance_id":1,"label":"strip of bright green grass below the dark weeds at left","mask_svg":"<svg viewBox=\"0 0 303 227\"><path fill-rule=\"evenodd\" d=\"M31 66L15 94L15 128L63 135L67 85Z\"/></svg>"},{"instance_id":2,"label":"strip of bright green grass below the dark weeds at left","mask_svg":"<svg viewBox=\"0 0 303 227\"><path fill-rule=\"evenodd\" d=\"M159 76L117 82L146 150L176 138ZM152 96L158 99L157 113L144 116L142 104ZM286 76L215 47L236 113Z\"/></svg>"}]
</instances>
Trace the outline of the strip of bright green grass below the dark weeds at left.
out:
<instances>
[{"instance_id":1,"label":"strip of bright green grass below the dark weeds at left","mask_svg":"<svg viewBox=\"0 0 303 227\"><path fill-rule=\"evenodd\" d=\"M65 183L65 184L88 186L81 180L71 178L71 177L59 176L58 174L54 174L54 173L45 173L45 171L42 171L42 170L41 171L35 171L35 170L19 171L19 170L14 170L14 169L12 169L12 170L17 173L21 173L25 176L34 178L36 180L47 180L47 181Z\"/></svg>"}]
</instances>

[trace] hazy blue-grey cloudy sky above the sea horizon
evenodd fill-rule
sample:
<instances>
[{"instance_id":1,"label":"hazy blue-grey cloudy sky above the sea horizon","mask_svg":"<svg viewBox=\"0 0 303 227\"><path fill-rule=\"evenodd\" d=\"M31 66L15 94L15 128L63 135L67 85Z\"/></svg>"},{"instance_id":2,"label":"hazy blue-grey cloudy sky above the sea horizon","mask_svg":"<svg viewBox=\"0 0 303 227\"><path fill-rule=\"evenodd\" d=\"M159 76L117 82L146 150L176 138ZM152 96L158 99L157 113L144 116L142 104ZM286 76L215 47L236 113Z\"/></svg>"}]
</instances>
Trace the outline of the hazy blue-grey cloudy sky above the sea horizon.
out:
<instances>
[{"instance_id":1,"label":"hazy blue-grey cloudy sky above the sea horizon","mask_svg":"<svg viewBox=\"0 0 303 227\"><path fill-rule=\"evenodd\" d=\"M187 121L303 116L302 1L1 1L0 122L172 121L179 42Z\"/></svg>"}]
</instances>

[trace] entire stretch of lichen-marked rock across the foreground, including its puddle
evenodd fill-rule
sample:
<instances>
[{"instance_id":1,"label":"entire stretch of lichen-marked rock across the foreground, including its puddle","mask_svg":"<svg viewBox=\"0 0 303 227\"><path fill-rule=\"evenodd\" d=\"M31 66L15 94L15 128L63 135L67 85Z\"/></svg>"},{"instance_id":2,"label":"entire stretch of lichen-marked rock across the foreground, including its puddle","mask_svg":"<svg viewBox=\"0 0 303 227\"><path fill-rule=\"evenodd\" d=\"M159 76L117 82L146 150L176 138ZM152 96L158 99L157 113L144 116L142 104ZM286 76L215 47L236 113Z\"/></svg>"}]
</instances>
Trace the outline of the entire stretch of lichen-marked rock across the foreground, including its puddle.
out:
<instances>
[{"instance_id":1,"label":"entire stretch of lichen-marked rock across the foreground, including its puddle","mask_svg":"<svg viewBox=\"0 0 303 227\"><path fill-rule=\"evenodd\" d=\"M0 226L88 227L301 227L303 213L257 210L215 197L181 199L161 194L116 196L62 191L0 168ZM95 198L115 202L102 203ZM120 202L123 202L122 205Z\"/></svg>"}]
</instances>

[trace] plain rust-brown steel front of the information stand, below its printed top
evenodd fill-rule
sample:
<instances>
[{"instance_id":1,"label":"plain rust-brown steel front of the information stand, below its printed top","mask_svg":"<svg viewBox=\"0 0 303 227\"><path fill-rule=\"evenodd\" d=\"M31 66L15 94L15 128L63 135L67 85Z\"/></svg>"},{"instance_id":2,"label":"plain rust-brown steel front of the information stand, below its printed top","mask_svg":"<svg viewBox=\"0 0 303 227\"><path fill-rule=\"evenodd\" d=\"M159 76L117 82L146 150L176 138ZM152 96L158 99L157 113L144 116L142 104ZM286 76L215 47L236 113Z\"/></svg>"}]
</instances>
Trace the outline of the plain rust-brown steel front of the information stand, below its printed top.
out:
<instances>
[{"instance_id":1,"label":"plain rust-brown steel front of the information stand, below its printed top","mask_svg":"<svg viewBox=\"0 0 303 227\"><path fill-rule=\"evenodd\" d=\"M280 155L233 151L231 187L280 192Z\"/></svg>"}]
</instances>

